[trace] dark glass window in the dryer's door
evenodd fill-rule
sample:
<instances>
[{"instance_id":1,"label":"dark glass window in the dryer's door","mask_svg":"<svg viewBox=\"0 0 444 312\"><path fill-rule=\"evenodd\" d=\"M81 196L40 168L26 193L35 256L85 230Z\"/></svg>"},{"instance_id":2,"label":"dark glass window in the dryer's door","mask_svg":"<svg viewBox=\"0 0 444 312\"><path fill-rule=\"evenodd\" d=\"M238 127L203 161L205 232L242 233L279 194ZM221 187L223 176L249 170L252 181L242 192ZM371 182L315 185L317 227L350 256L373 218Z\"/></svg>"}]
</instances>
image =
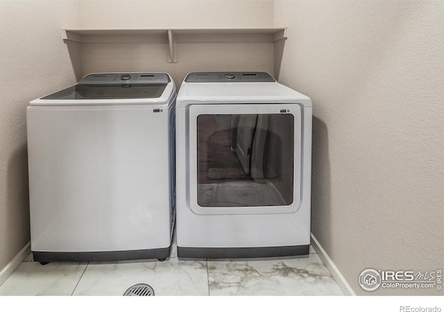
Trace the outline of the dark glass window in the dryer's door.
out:
<instances>
[{"instance_id":1,"label":"dark glass window in the dryer's door","mask_svg":"<svg viewBox=\"0 0 444 312\"><path fill-rule=\"evenodd\" d=\"M259 207L293 202L292 114L200 114L200 207Z\"/></svg>"}]
</instances>

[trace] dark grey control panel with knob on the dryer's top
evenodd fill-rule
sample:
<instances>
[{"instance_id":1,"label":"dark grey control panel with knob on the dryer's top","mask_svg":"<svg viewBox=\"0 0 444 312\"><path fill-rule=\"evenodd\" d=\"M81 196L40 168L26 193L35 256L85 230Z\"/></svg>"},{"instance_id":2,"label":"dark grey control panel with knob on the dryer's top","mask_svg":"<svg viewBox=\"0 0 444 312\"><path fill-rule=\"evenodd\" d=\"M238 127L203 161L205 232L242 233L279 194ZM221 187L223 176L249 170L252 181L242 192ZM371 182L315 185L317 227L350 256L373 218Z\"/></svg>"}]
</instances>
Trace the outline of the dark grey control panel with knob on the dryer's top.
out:
<instances>
[{"instance_id":1,"label":"dark grey control panel with knob on the dryer's top","mask_svg":"<svg viewBox=\"0 0 444 312\"><path fill-rule=\"evenodd\" d=\"M187 83L275 83L275 79L262 71L209 71L189 73Z\"/></svg>"}]
</instances>

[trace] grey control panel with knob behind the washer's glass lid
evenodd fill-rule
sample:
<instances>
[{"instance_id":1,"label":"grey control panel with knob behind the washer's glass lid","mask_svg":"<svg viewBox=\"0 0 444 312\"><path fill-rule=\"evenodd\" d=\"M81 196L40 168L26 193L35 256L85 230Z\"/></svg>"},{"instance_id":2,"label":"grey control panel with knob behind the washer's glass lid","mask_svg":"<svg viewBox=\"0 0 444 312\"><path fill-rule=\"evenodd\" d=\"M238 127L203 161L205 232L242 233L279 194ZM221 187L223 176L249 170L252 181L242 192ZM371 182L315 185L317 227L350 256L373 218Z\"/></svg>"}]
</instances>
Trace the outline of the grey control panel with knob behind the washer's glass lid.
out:
<instances>
[{"instance_id":1,"label":"grey control panel with knob behind the washer's glass lid","mask_svg":"<svg viewBox=\"0 0 444 312\"><path fill-rule=\"evenodd\" d=\"M90 73L78 85L166 85L167 73Z\"/></svg>"}]
</instances>

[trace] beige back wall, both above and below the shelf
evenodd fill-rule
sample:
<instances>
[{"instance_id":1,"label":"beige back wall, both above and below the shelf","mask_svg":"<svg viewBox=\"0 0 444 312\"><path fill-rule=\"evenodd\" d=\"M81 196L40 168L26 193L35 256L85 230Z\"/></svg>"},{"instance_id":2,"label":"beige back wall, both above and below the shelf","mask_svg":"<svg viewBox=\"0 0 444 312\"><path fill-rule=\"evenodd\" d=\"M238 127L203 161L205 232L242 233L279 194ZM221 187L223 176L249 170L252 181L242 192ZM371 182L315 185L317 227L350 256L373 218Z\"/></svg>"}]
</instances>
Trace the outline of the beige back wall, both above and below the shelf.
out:
<instances>
[{"instance_id":1,"label":"beige back wall, both above and below the shelf","mask_svg":"<svg viewBox=\"0 0 444 312\"><path fill-rule=\"evenodd\" d=\"M83 28L273 26L271 0L87 0ZM85 43L81 76L103 71L167 71L180 87L190 71L262 70L273 73L272 42L179 42L178 62L167 61L167 42ZM79 77L80 78L80 77Z\"/></svg>"}]
</instances>

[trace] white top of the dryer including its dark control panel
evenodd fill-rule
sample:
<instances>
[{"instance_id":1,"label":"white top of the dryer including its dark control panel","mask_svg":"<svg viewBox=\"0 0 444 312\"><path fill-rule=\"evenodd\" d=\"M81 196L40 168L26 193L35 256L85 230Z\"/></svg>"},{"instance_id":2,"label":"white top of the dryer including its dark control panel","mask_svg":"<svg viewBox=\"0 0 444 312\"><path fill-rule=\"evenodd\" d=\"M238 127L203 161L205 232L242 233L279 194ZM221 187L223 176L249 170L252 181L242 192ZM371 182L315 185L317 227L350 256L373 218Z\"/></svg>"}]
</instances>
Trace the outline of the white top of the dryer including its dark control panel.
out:
<instances>
[{"instance_id":1,"label":"white top of the dryer including its dark control panel","mask_svg":"<svg viewBox=\"0 0 444 312\"><path fill-rule=\"evenodd\" d=\"M230 78L232 76L234 78ZM299 103L311 106L308 96L276 82L268 73L203 72L187 75L180 86L176 107L230 103Z\"/></svg>"}]
</instances>

